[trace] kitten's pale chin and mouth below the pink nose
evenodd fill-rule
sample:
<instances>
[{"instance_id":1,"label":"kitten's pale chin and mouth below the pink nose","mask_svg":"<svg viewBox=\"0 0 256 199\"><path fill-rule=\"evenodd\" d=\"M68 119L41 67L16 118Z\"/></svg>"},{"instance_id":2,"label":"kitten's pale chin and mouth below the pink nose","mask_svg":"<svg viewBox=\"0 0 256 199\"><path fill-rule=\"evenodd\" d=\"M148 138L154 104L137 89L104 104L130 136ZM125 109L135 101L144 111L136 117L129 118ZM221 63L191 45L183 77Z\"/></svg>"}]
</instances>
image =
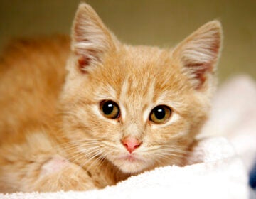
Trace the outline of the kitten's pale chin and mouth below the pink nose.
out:
<instances>
[{"instance_id":1,"label":"kitten's pale chin and mouth below the pink nose","mask_svg":"<svg viewBox=\"0 0 256 199\"><path fill-rule=\"evenodd\" d=\"M117 158L113 163L124 173L140 173L149 167L149 163L134 156Z\"/></svg>"}]
</instances>

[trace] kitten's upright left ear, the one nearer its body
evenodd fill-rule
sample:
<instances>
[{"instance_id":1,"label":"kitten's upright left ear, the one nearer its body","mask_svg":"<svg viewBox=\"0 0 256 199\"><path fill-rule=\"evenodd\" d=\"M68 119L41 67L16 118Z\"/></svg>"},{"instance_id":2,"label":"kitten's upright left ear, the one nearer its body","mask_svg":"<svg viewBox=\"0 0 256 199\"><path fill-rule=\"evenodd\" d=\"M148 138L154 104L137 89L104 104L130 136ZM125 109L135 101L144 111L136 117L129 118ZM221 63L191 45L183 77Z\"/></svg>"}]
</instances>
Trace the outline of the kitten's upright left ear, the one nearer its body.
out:
<instances>
[{"instance_id":1,"label":"kitten's upright left ear, the one nearer its body","mask_svg":"<svg viewBox=\"0 0 256 199\"><path fill-rule=\"evenodd\" d=\"M86 72L88 65L102 63L117 43L94 9L85 3L79 5L75 14L71 38L71 50L77 55L81 72Z\"/></svg>"}]
</instances>

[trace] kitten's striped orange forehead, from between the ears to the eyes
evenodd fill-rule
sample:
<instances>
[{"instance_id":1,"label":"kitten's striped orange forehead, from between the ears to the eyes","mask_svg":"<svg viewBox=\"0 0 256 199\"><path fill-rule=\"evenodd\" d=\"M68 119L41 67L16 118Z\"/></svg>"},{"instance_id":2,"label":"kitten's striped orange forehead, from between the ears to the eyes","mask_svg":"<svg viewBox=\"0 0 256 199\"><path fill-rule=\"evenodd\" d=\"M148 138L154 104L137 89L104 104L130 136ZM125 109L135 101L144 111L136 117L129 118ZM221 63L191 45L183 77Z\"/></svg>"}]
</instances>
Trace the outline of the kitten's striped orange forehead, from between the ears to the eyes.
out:
<instances>
[{"instance_id":1,"label":"kitten's striped orange forehead, from between the ears to the eyes","mask_svg":"<svg viewBox=\"0 0 256 199\"><path fill-rule=\"evenodd\" d=\"M142 115L157 103L166 104L166 95L174 93L175 80L171 78L174 79L172 76L177 70L171 68L169 50L125 46L105 63L104 68L104 74L108 75L105 98L115 99L127 114L132 114L129 117Z\"/></svg>"}]
</instances>

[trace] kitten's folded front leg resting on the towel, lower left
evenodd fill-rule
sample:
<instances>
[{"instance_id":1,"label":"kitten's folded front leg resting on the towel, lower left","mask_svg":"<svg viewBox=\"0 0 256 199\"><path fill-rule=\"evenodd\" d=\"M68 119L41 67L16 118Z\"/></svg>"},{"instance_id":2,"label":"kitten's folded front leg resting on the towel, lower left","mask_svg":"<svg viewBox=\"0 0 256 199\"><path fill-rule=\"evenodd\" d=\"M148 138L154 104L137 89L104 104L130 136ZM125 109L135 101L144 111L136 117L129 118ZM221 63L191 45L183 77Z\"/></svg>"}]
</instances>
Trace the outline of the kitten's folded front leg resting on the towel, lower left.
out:
<instances>
[{"instance_id":1,"label":"kitten's folded front leg resting on the towel, lower left","mask_svg":"<svg viewBox=\"0 0 256 199\"><path fill-rule=\"evenodd\" d=\"M53 156L41 166L41 173L31 191L90 190L97 186L80 166L61 156Z\"/></svg>"}]
</instances>

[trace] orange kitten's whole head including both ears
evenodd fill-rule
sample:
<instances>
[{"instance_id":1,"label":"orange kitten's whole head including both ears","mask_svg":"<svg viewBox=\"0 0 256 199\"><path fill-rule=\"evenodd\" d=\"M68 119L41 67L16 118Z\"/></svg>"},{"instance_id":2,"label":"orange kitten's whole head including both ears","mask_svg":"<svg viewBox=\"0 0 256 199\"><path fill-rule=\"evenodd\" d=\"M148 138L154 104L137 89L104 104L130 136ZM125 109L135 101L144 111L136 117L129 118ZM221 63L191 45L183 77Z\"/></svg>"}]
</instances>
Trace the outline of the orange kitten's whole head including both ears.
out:
<instances>
[{"instance_id":1,"label":"orange kitten's whole head including both ears","mask_svg":"<svg viewBox=\"0 0 256 199\"><path fill-rule=\"evenodd\" d=\"M210 108L221 35L211 21L173 50L124 45L80 4L61 97L76 158L129 173L181 164Z\"/></svg>"}]
</instances>

